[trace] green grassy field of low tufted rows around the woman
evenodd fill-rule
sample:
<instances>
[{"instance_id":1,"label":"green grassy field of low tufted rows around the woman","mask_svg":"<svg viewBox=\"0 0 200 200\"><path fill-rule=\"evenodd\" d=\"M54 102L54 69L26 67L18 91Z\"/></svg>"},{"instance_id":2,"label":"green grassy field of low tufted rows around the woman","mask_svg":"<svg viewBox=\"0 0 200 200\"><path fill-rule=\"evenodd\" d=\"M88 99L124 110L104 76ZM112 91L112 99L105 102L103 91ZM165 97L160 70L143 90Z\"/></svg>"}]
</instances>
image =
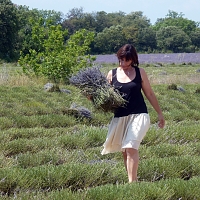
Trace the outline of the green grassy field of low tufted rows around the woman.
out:
<instances>
[{"instance_id":1,"label":"green grassy field of low tufted rows around the woman","mask_svg":"<svg viewBox=\"0 0 200 200\"><path fill-rule=\"evenodd\" d=\"M102 71L117 67L102 64ZM16 64L0 67L0 199L199 200L200 64L141 64L166 118L140 147L139 182L128 184L121 153L102 156L112 113L94 109L71 85L47 92L45 79ZM76 104L91 117L68 112Z\"/></svg>"}]
</instances>

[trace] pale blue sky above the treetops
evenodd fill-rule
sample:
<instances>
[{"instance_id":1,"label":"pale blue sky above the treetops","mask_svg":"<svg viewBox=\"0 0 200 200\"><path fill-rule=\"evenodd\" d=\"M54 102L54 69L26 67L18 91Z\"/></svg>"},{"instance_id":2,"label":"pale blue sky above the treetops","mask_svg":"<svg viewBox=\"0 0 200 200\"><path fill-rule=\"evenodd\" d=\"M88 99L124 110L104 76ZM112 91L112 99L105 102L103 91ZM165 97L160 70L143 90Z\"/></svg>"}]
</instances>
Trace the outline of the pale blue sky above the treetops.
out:
<instances>
[{"instance_id":1,"label":"pale blue sky above the treetops","mask_svg":"<svg viewBox=\"0 0 200 200\"><path fill-rule=\"evenodd\" d=\"M83 8L84 13L122 11L126 14L142 11L154 24L164 18L169 10L184 14L183 17L200 22L200 0L11 0L29 9L54 10L67 14L73 8Z\"/></svg>"}]
</instances>

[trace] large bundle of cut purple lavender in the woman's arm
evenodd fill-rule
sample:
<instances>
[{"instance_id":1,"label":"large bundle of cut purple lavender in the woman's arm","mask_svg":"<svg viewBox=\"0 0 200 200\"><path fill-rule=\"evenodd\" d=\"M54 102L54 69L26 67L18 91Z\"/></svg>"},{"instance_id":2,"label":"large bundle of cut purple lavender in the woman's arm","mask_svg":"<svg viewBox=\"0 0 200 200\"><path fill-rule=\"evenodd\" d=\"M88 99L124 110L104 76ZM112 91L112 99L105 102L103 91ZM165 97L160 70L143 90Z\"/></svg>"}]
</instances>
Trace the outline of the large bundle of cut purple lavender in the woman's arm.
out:
<instances>
[{"instance_id":1,"label":"large bundle of cut purple lavender in the woman's arm","mask_svg":"<svg viewBox=\"0 0 200 200\"><path fill-rule=\"evenodd\" d=\"M98 66L80 70L69 79L86 97L90 97L96 109L114 112L125 100L117 89L109 84Z\"/></svg>"}]
</instances>

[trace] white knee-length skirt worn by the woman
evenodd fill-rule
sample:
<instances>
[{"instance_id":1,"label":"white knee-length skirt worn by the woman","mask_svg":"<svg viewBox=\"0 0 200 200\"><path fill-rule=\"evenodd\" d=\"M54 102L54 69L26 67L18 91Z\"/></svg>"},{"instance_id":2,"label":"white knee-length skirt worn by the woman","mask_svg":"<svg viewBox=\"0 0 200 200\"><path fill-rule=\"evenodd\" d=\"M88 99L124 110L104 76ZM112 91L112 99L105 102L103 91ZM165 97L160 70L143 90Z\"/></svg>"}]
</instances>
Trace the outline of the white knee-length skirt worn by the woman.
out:
<instances>
[{"instance_id":1,"label":"white knee-length skirt worn by the woman","mask_svg":"<svg viewBox=\"0 0 200 200\"><path fill-rule=\"evenodd\" d=\"M101 154L125 151L126 148L138 149L149 126L150 117L147 113L113 118Z\"/></svg>"}]
</instances>

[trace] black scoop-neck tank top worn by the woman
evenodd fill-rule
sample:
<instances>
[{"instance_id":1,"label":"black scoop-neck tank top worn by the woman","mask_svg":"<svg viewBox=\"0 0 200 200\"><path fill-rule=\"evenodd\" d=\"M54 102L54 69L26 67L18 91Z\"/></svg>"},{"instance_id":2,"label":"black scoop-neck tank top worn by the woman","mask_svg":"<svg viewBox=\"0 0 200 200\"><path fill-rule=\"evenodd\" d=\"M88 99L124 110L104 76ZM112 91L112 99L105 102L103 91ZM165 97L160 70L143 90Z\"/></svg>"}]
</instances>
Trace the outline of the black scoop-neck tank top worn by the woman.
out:
<instances>
[{"instance_id":1,"label":"black scoop-neck tank top worn by the woman","mask_svg":"<svg viewBox=\"0 0 200 200\"><path fill-rule=\"evenodd\" d=\"M117 68L112 70L111 84L120 91L122 97L127 101L126 105L115 110L114 117L123 117L130 114L148 113L141 88L142 78L140 70L135 67L136 76L128 83L120 83L117 80Z\"/></svg>"}]
</instances>

